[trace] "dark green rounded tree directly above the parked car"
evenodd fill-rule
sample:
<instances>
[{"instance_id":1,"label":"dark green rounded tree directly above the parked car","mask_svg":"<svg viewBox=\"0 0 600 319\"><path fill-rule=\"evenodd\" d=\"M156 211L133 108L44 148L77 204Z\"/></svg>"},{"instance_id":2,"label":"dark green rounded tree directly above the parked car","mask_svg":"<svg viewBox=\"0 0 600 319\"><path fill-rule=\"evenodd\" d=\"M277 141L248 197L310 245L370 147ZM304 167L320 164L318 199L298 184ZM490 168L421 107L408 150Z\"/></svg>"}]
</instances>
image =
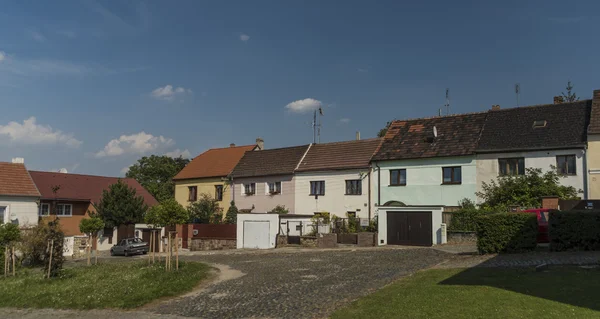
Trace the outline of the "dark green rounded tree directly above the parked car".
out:
<instances>
[{"instance_id":1,"label":"dark green rounded tree directly above the parked car","mask_svg":"<svg viewBox=\"0 0 600 319\"><path fill-rule=\"evenodd\" d=\"M148 210L144 198L122 180L103 190L100 202L94 206L106 227L139 223Z\"/></svg>"}]
</instances>

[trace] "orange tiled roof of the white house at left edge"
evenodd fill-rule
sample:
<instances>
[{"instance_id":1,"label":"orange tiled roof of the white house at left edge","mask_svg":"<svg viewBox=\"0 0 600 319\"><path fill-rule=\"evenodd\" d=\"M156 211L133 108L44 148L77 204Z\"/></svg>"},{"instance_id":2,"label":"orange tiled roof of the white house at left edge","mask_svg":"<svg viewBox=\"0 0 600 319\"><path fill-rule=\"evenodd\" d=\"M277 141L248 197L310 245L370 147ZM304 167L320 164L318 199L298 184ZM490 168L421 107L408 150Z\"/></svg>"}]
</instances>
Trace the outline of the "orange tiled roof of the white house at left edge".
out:
<instances>
[{"instance_id":1,"label":"orange tiled roof of the white house at left edge","mask_svg":"<svg viewBox=\"0 0 600 319\"><path fill-rule=\"evenodd\" d=\"M39 197L40 192L24 164L0 162L0 195Z\"/></svg>"}]
</instances>

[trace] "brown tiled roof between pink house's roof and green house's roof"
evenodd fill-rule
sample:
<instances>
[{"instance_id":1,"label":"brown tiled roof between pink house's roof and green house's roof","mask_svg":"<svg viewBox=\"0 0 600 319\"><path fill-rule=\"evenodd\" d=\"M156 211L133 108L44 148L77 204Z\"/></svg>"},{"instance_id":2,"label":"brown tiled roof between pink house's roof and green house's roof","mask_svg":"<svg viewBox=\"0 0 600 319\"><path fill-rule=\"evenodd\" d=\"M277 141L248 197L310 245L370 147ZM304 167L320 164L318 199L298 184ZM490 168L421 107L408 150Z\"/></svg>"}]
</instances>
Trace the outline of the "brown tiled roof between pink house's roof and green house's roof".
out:
<instances>
[{"instance_id":1,"label":"brown tiled roof between pink house's roof and green house's roof","mask_svg":"<svg viewBox=\"0 0 600 319\"><path fill-rule=\"evenodd\" d=\"M342 170L369 167L381 138L313 144L296 171Z\"/></svg>"}]
</instances>

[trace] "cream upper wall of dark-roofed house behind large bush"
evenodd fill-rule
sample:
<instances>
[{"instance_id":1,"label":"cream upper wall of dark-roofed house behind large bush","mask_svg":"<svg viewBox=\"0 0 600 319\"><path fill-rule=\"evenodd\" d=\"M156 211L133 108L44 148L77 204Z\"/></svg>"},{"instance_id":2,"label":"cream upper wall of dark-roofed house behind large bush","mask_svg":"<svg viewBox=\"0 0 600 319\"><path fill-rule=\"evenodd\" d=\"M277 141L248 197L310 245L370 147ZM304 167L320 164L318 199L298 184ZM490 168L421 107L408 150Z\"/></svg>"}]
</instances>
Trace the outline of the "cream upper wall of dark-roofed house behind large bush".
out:
<instances>
[{"instance_id":1,"label":"cream upper wall of dark-roofed house behind large bush","mask_svg":"<svg viewBox=\"0 0 600 319\"><path fill-rule=\"evenodd\" d=\"M498 159L523 157L525 159L525 168L541 168L544 172L550 170L550 166L556 166L557 155L576 155L577 175L566 176L560 179L560 183L565 186L573 186L577 190L584 190L584 176L586 174L583 166L584 150L550 150L550 151L532 151L532 152L513 152L513 153L490 153L477 155L477 191L482 191L483 182L489 183L495 180L499 175ZM584 196L583 193L580 196ZM480 199L478 199L480 201Z\"/></svg>"}]
</instances>

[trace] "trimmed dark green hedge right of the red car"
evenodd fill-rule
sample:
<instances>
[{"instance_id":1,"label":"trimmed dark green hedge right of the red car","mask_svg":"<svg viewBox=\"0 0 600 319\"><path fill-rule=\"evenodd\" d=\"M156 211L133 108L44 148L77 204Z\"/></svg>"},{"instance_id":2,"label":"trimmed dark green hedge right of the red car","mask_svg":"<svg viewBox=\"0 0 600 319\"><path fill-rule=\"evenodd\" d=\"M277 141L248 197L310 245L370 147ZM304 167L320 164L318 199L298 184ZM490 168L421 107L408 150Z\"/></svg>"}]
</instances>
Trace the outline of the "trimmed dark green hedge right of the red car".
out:
<instances>
[{"instance_id":1,"label":"trimmed dark green hedge right of the red car","mask_svg":"<svg viewBox=\"0 0 600 319\"><path fill-rule=\"evenodd\" d=\"M600 211L551 211L551 251L600 250Z\"/></svg>"}]
</instances>

